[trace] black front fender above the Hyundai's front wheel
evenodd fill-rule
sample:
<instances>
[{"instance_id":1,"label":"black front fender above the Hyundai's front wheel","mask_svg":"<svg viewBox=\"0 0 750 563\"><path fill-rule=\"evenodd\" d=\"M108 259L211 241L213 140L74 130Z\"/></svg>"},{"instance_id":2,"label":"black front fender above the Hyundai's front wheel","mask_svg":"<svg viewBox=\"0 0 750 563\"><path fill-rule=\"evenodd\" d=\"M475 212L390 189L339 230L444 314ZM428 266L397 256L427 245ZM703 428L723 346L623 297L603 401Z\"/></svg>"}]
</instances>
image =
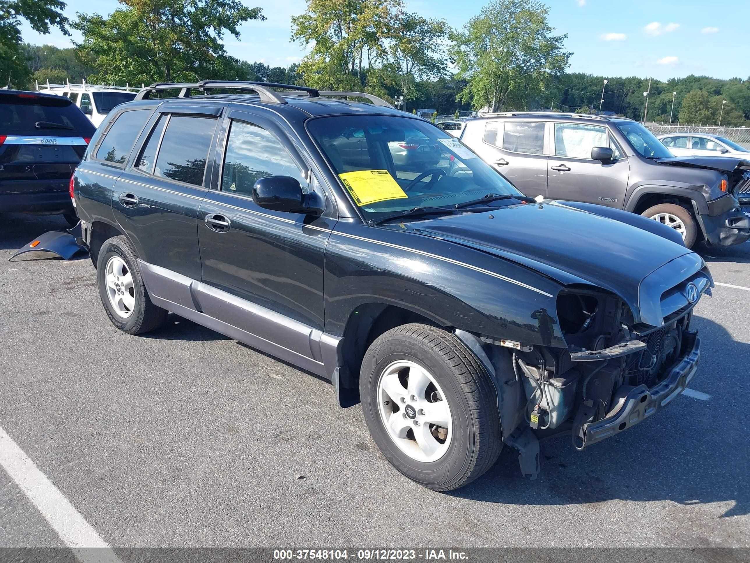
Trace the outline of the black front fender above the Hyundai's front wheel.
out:
<instances>
[{"instance_id":1,"label":"black front fender above the Hyundai's front wheel","mask_svg":"<svg viewBox=\"0 0 750 563\"><path fill-rule=\"evenodd\" d=\"M344 336L364 303L422 315L442 327L565 346L557 281L454 242L339 221L326 248L326 333Z\"/></svg>"}]
</instances>

